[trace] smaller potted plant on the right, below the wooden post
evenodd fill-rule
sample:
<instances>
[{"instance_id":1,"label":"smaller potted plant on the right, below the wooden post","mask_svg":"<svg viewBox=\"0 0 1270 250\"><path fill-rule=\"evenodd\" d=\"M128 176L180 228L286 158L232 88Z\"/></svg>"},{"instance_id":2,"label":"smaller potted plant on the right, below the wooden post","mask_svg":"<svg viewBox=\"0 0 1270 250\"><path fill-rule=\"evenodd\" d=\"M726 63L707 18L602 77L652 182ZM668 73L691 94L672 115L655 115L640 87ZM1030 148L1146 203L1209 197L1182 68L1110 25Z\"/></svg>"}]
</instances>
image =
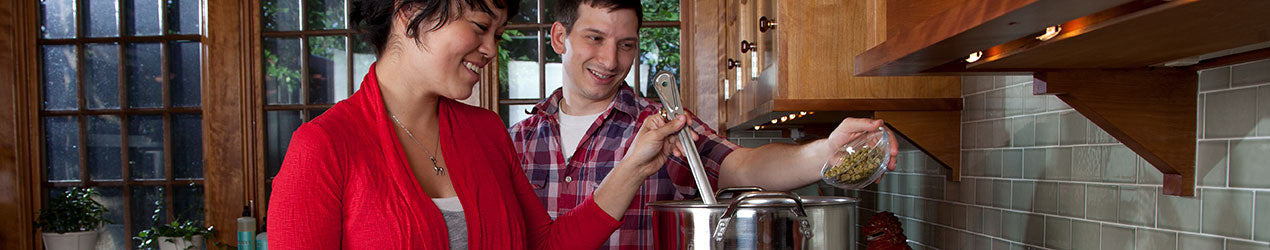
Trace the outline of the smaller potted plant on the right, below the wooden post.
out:
<instances>
[{"instance_id":1,"label":"smaller potted plant on the right, below the wooden post","mask_svg":"<svg viewBox=\"0 0 1270 250\"><path fill-rule=\"evenodd\" d=\"M137 247L150 249L157 246L160 250L202 250L206 242L204 236L212 234L211 227L203 227L196 221L173 221L142 230L133 240L141 242Z\"/></svg>"}]
</instances>

